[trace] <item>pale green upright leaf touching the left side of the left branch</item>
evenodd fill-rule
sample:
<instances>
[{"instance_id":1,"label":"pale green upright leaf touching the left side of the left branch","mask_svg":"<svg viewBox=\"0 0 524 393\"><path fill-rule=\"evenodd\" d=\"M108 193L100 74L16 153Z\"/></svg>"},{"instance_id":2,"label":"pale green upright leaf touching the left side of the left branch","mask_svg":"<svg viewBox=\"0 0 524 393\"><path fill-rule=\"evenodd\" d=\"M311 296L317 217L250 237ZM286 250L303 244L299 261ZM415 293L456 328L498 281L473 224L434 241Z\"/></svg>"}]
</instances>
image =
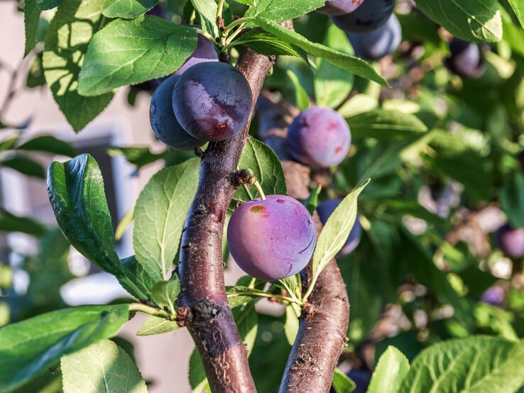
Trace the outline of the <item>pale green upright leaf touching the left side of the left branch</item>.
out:
<instances>
[{"instance_id":1,"label":"pale green upright leaf touching the left side of the left branch","mask_svg":"<svg viewBox=\"0 0 524 393\"><path fill-rule=\"evenodd\" d=\"M200 160L166 167L142 190L135 206L136 259L156 281L169 279L187 211L197 191Z\"/></svg>"}]
</instances>

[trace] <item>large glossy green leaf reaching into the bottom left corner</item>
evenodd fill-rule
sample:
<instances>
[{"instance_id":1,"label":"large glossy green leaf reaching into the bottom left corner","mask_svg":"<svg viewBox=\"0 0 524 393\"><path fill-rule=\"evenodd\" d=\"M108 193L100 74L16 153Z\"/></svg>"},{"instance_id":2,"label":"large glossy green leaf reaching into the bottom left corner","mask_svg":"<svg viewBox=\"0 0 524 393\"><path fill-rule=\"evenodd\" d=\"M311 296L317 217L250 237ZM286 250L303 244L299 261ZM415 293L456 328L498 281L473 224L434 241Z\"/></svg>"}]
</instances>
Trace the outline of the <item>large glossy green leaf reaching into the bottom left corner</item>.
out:
<instances>
[{"instance_id":1,"label":"large glossy green leaf reaching into the bottom left corner","mask_svg":"<svg viewBox=\"0 0 524 393\"><path fill-rule=\"evenodd\" d=\"M82 306L0 328L0 390L9 392L58 364L62 355L115 336L128 314L127 304Z\"/></svg>"}]
</instances>

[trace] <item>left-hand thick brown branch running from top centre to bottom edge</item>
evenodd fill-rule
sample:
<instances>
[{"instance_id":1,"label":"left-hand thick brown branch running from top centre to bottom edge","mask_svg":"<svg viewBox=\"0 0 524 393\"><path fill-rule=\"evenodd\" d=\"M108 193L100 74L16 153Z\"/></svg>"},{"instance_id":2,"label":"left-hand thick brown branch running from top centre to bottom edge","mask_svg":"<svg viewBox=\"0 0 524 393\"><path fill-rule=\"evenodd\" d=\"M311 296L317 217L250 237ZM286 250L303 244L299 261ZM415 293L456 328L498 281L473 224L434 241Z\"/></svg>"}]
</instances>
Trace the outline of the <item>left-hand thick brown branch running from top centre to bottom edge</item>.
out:
<instances>
[{"instance_id":1,"label":"left-hand thick brown branch running from top centre to bottom edge","mask_svg":"<svg viewBox=\"0 0 524 393\"><path fill-rule=\"evenodd\" d=\"M246 49L237 68L247 78L254 101L273 65L270 57ZM181 306L191 310L187 328L195 340L213 392L256 392L247 351L234 323L224 288L222 232L236 185L236 171L251 118L238 138L209 143L202 155L200 182L182 235L178 271Z\"/></svg>"}]
</instances>

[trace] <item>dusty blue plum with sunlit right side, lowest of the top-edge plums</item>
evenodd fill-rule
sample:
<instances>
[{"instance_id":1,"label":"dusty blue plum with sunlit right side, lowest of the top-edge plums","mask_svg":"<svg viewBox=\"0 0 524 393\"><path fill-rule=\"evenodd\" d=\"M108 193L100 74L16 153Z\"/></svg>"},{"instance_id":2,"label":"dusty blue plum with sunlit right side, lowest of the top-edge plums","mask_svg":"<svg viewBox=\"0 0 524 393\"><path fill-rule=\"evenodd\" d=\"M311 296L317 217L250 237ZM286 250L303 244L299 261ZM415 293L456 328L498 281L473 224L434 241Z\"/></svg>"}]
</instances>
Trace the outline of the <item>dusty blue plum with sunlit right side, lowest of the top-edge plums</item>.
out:
<instances>
[{"instance_id":1,"label":"dusty blue plum with sunlit right side, lowest of the top-edge plums","mask_svg":"<svg viewBox=\"0 0 524 393\"><path fill-rule=\"evenodd\" d=\"M388 22L373 33L348 34L355 55L366 60L378 60L389 55L398 48L402 41L402 28L395 14Z\"/></svg>"}]
</instances>

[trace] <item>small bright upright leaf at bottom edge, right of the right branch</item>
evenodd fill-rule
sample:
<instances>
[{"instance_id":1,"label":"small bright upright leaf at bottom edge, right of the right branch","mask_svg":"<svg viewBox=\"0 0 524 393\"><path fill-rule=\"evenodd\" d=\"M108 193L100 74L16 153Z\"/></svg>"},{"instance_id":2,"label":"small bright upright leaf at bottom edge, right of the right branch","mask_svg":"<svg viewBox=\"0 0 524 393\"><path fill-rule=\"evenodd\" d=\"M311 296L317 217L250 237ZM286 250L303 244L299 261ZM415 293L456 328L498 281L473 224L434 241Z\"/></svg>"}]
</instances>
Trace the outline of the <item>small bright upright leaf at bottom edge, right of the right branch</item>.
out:
<instances>
[{"instance_id":1,"label":"small bright upright leaf at bottom edge, right of the right branch","mask_svg":"<svg viewBox=\"0 0 524 393\"><path fill-rule=\"evenodd\" d=\"M368 393L397 393L409 371L408 358L397 348L389 346L378 359Z\"/></svg>"}]
</instances>

